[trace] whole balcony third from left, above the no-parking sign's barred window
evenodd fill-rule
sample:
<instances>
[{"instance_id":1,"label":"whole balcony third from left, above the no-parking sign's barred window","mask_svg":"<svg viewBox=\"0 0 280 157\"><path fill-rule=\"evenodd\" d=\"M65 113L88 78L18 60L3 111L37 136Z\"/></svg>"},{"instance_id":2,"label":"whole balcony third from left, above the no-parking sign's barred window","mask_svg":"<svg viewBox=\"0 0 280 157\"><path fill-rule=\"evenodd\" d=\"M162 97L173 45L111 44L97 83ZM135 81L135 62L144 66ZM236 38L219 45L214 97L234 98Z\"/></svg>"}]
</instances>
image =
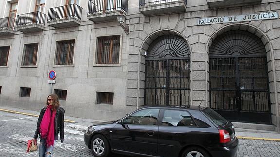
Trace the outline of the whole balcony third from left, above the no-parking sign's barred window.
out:
<instances>
[{"instance_id":1,"label":"whole balcony third from left, above the no-parking sign's barred window","mask_svg":"<svg viewBox=\"0 0 280 157\"><path fill-rule=\"evenodd\" d=\"M82 18L82 10L83 8L77 4L50 8L47 23L54 28L79 26Z\"/></svg>"}]
</instances>

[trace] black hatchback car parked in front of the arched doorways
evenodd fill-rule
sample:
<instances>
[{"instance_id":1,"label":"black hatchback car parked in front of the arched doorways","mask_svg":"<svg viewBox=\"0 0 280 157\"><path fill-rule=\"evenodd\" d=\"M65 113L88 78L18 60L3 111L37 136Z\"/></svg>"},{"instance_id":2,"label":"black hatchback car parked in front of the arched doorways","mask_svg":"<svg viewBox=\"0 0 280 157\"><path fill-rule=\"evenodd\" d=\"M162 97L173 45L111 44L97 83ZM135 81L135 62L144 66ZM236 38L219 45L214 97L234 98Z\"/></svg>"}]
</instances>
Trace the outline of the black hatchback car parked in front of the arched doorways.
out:
<instances>
[{"instance_id":1,"label":"black hatchback car parked in front of the arched doorways","mask_svg":"<svg viewBox=\"0 0 280 157\"><path fill-rule=\"evenodd\" d=\"M148 157L235 157L234 126L208 107L146 107L88 127L94 157L110 153Z\"/></svg>"}]
</instances>

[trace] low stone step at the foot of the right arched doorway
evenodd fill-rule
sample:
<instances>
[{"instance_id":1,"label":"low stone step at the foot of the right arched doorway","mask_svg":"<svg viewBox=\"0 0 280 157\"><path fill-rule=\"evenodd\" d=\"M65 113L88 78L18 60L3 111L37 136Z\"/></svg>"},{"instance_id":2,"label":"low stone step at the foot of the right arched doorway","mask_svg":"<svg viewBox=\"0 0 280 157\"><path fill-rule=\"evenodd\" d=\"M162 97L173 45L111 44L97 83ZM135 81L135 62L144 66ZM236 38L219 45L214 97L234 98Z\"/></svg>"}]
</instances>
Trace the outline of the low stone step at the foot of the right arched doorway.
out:
<instances>
[{"instance_id":1,"label":"low stone step at the foot of the right arched doorway","mask_svg":"<svg viewBox=\"0 0 280 157\"><path fill-rule=\"evenodd\" d=\"M276 131L274 125L266 124L253 124L253 123L243 123L243 122L232 122L235 128L240 129L252 129L252 130L264 130L264 131Z\"/></svg>"}]
</instances>

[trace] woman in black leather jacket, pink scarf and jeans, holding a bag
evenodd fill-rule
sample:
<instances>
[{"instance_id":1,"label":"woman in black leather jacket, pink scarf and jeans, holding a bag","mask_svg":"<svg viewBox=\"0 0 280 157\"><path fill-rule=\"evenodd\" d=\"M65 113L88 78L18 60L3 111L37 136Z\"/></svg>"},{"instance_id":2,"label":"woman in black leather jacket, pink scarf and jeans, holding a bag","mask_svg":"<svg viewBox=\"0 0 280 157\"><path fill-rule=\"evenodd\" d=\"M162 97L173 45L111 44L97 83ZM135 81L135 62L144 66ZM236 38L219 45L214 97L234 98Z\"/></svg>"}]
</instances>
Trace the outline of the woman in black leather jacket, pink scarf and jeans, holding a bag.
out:
<instances>
[{"instance_id":1,"label":"woman in black leather jacket, pink scarf and jeans, holding a bag","mask_svg":"<svg viewBox=\"0 0 280 157\"><path fill-rule=\"evenodd\" d=\"M37 128L33 136L34 143L36 144L40 134L39 157L51 157L59 132L61 143L64 141L65 111L59 107L58 96L56 94L49 95L46 104L47 106L41 109Z\"/></svg>"}]
</instances>

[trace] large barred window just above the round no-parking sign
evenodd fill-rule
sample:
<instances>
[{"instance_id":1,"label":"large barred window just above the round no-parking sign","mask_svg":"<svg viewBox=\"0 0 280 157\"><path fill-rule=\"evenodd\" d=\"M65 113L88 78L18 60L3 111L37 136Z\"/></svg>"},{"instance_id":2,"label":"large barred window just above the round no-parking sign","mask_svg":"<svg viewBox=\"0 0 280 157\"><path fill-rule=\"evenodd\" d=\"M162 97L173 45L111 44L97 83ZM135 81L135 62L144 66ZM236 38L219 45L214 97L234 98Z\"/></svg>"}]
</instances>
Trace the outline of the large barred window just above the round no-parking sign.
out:
<instances>
[{"instance_id":1,"label":"large barred window just above the round no-parking sign","mask_svg":"<svg viewBox=\"0 0 280 157\"><path fill-rule=\"evenodd\" d=\"M75 40L57 41L56 65L73 64Z\"/></svg>"}]
</instances>

